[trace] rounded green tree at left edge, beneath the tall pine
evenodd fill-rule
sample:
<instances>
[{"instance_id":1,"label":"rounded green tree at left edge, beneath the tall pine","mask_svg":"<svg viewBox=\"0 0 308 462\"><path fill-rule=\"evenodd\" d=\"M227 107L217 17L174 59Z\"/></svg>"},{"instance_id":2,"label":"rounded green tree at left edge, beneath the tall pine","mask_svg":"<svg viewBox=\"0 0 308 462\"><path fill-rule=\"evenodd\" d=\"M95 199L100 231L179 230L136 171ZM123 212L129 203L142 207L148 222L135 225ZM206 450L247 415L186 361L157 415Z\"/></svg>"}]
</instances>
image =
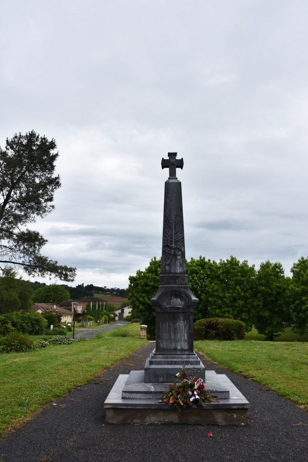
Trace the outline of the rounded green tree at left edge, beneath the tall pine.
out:
<instances>
[{"instance_id":1,"label":"rounded green tree at left edge, beneath the tall pine","mask_svg":"<svg viewBox=\"0 0 308 462\"><path fill-rule=\"evenodd\" d=\"M30 311L32 290L28 281L16 278L12 268L5 268L0 277L0 313Z\"/></svg>"}]
</instances>

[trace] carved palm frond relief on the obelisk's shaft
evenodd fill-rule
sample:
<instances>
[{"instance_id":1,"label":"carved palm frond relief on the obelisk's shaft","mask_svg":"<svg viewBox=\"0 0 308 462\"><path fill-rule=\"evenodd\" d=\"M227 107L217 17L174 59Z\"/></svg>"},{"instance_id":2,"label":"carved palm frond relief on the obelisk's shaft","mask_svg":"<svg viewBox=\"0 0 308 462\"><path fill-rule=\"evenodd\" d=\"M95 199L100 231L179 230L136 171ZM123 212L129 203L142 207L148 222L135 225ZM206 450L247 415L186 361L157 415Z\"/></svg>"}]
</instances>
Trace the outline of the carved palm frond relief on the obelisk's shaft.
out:
<instances>
[{"instance_id":1,"label":"carved palm frond relief on the obelisk's shaft","mask_svg":"<svg viewBox=\"0 0 308 462\"><path fill-rule=\"evenodd\" d=\"M184 226L181 207L173 207L164 218L162 272L185 273Z\"/></svg>"}]
</instances>

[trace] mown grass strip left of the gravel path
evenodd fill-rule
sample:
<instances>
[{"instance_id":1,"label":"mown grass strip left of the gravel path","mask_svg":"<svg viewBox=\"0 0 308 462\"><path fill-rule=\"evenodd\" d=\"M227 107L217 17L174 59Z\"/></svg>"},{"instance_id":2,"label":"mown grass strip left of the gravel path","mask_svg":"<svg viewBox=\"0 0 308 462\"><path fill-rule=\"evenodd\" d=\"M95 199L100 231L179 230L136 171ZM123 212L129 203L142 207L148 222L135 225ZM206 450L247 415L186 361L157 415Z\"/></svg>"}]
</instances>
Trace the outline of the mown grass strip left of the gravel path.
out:
<instances>
[{"instance_id":1,"label":"mown grass strip left of the gravel path","mask_svg":"<svg viewBox=\"0 0 308 462\"><path fill-rule=\"evenodd\" d=\"M0 432L20 424L33 411L87 383L146 343L139 338L139 325L129 324L125 329L127 337L106 332L70 345L0 355Z\"/></svg>"}]
</instances>

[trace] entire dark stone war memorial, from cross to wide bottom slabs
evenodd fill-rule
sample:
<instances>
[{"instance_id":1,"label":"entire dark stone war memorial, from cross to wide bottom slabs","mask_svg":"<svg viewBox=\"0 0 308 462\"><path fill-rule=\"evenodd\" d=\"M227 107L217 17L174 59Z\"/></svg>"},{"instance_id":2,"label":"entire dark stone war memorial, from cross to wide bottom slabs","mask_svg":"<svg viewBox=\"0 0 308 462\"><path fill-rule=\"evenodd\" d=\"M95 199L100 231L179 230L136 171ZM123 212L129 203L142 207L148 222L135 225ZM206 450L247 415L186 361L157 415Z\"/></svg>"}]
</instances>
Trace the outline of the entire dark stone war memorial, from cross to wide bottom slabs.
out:
<instances>
[{"instance_id":1,"label":"entire dark stone war memorial, from cross to wide bottom slabs","mask_svg":"<svg viewBox=\"0 0 308 462\"><path fill-rule=\"evenodd\" d=\"M114 424L174 423L245 425L249 403L223 374L205 370L194 352L193 315L198 299L191 293L185 263L182 187L177 168L183 159L169 152L162 168L169 169L165 182L162 241L162 272L156 295L151 299L156 313L156 348L144 370L120 374L105 400L106 421ZM194 370L217 402L179 412L164 402L168 383L182 364Z\"/></svg>"}]
</instances>

